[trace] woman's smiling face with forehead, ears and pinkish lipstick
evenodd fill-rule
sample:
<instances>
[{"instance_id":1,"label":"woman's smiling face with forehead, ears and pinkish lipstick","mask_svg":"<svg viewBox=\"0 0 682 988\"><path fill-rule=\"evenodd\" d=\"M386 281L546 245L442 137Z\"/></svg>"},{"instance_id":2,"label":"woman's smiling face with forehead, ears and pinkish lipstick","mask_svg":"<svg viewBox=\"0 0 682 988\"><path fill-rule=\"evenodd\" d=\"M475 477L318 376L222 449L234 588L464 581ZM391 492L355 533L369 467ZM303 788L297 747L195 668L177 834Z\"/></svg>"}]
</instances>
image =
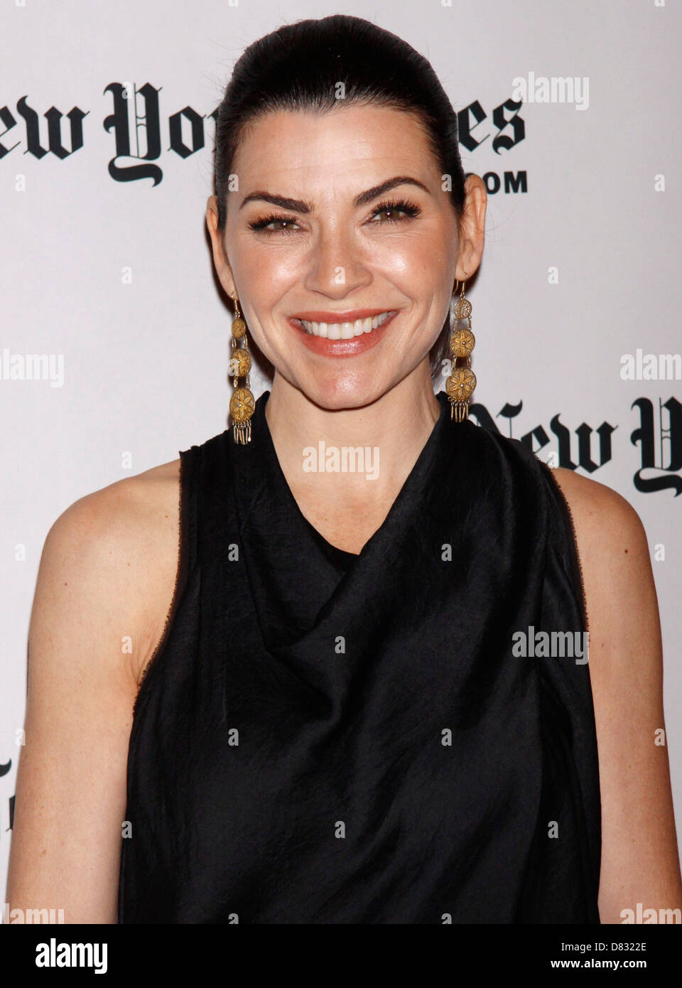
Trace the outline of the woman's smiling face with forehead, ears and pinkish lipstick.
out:
<instances>
[{"instance_id":1,"label":"woman's smiling face with forehead, ears and pinkish lipstick","mask_svg":"<svg viewBox=\"0 0 682 988\"><path fill-rule=\"evenodd\" d=\"M481 258L481 180L460 231L416 119L376 106L270 114L233 168L222 237L208 202L213 256L275 371L328 409L429 378L455 279Z\"/></svg>"}]
</instances>

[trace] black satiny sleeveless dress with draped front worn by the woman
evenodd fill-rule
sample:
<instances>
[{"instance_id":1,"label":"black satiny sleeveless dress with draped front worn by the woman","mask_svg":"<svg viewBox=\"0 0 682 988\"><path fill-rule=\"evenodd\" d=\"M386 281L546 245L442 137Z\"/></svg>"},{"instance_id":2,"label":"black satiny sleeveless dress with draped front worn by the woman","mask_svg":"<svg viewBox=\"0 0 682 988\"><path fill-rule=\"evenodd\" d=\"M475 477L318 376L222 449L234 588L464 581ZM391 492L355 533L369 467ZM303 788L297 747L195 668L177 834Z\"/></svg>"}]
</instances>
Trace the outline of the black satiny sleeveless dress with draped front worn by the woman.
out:
<instances>
[{"instance_id":1,"label":"black satiny sleeveless dress with draped front worn by the woman","mask_svg":"<svg viewBox=\"0 0 682 988\"><path fill-rule=\"evenodd\" d=\"M599 923L568 504L440 417L359 555L305 519L256 403L181 453L181 559L135 703L119 923ZM534 630L533 630L534 629Z\"/></svg>"}]
</instances>

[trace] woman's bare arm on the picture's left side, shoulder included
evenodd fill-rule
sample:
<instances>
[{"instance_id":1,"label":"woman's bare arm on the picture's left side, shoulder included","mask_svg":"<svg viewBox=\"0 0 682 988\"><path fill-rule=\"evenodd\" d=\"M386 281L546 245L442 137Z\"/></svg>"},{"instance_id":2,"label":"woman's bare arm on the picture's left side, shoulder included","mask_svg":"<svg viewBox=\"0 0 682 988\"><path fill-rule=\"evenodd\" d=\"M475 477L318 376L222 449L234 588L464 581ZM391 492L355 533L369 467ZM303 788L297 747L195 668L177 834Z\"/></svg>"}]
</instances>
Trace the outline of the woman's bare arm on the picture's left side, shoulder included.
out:
<instances>
[{"instance_id":1,"label":"woman's bare arm on the picture's left side, shoulder included","mask_svg":"<svg viewBox=\"0 0 682 988\"><path fill-rule=\"evenodd\" d=\"M29 632L10 915L53 908L66 923L116 922L132 707L170 604L177 551L174 514L162 516L171 528L164 559L159 522L149 524L158 511L141 491L130 478L83 498L45 539Z\"/></svg>"}]
</instances>

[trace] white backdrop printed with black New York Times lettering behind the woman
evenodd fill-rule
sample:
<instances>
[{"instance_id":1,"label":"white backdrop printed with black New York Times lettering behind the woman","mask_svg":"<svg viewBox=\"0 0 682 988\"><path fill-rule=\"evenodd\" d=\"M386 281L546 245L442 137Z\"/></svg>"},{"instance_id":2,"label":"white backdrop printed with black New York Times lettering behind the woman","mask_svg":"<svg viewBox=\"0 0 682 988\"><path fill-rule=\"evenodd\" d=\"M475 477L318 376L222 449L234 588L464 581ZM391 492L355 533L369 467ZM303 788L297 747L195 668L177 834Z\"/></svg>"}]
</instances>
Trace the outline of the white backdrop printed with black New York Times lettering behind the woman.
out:
<instances>
[{"instance_id":1,"label":"white backdrop printed with black New York Times lettering behind the woman","mask_svg":"<svg viewBox=\"0 0 682 988\"><path fill-rule=\"evenodd\" d=\"M422 51L477 142L461 149L465 170L487 175L491 193L484 260L468 289L481 416L517 439L538 430L534 449L544 459L560 452L557 432L566 426L562 465L569 457L642 517L663 629L678 830L682 824L682 380L621 376L623 356L638 348L680 350L678 5L8 0L0 13L3 890L44 537L73 501L226 427L229 316L204 231L210 115L248 43L283 23L333 13L375 21ZM579 80L573 96L584 109L527 94L515 122L497 123L500 113L514 116L496 108L518 97L514 80L528 82L531 73L536 81ZM119 133L128 133L130 154L105 126L116 84L159 91L148 160L131 104ZM142 95L137 101L141 107ZM71 120L86 115L76 148L66 116L73 108ZM185 154L171 131L182 111ZM192 111L203 146L192 144ZM506 146L493 143L500 137ZM135 171L140 165L145 170ZM513 177L506 191L505 173ZM29 379L27 355L41 359L38 379ZM256 384L258 395L267 385ZM505 405L516 414L500 414ZM647 410L643 446L633 433ZM602 460L603 424L611 454ZM540 427L549 440L542 449ZM591 437L591 453L579 455L580 435ZM650 480L658 489L647 488Z\"/></svg>"}]
</instances>

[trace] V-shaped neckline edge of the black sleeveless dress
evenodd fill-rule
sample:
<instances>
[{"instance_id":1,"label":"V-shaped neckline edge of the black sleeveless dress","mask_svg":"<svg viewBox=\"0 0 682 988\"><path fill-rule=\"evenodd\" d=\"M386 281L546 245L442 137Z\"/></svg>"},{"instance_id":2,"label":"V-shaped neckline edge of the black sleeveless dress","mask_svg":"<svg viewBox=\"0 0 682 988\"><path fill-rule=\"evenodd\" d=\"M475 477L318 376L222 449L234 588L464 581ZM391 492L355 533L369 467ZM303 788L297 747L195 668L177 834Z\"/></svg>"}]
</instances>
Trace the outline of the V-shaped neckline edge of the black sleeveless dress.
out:
<instances>
[{"instance_id":1,"label":"V-shaped neckline edge of the black sleeveless dress","mask_svg":"<svg viewBox=\"0 0 682 988\"><path fill-rule=\"evenodd\" d=\"M449 406L447 394L444 391L439 391L436 394L435 396L436 400L440 404L440 414L436 419L436 421L433 423L433 428L431 429L431 432L429 433L426 442L424 443L423 447L418 453L417 459L412 469L410 470L410 473L406 477L403 486L399 490L393 504L389 508L386 518L381 523L381 525L376 530L376 532L374 532L372 535L369 536L369 538L367 539L367 541L362 546L359 552L349 552L346 549L341 549L338 545L334 545L332 542L328 541L327 538L325 538L325 536L322 535L321 532L318 532L318 530L315 528L312 522L310 522L301 511L298 501L294 497L293 492L289 487L284 471L282 470L281 464L279 462L279 457L277 456L277 451L274 447L272 435L267 425L267 418L265 416L265 405L269 400L269 396L270 396L270 391L265 390L261 394L258 401L256 402L256 408L254 411L254 428L255 430L258 430L258 435L262 437L264 440L266 455L272 463L273 471L276 476L279 487L282 491L282 494L286 502L288 503L290 510L294 513L296 518L305 526L308 533L311 535L311 537L314 539L314 541L317 543L320 549L325 553L325 555L330 560L330 562L336 565L339 569L345 571L349 566L352 565L352 563L355 560L359 559L360 556L364 554L370 542L373 542L379 538L383 530L386 528L391 515L396 510L396 507L399 505L400 502L402 502L403 500L405 500L405 498L409 496L409 492L413 484L415 483L417 475L420 473L421 466L424 460L428 457L428 455L435 447L437 443L438 435L443 429L444 424L447 422L447 409Z\"/></svg>"}]
</instances>

